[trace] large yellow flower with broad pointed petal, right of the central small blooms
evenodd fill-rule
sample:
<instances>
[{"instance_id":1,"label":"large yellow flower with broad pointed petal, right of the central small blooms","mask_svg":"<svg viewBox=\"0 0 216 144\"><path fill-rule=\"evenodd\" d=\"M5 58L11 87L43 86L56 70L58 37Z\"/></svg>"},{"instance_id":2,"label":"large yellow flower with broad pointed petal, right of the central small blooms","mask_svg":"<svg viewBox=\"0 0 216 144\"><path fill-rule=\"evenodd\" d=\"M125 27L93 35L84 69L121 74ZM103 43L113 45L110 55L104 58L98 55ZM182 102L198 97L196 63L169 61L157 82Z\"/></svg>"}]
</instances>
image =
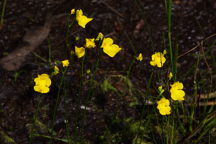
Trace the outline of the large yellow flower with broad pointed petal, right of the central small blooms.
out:
<instances>
[{"instance_id":1,"label":"large yellow flower with broad pointed petal, right of the central small blooms","mask_svg":"<svg viewBox=\"0 0 216 144\"><path fill-rule=\"evenodd\" d=\"M103 52L110 57L114 57L121 50L118 45L113 44L111 38L104 38L101 48L103 48Z\"/></svg>"}]
</instances>

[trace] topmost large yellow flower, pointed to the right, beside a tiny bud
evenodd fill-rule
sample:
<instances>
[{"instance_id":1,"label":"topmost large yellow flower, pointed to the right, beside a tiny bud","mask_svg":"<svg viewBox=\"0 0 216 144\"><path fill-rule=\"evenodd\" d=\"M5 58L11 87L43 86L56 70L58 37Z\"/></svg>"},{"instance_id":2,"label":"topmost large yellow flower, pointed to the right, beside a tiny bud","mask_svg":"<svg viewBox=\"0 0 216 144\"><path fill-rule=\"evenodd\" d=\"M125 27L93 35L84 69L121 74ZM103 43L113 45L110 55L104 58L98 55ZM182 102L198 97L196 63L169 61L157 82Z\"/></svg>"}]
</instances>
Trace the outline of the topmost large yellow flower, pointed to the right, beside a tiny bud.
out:
<instances>
[{"instance_id":1,"label":"topmost large yellow flower, pointed to the right, beside a tiny bud","mask_svg":"<svg viewBox=\"0 0 216 144\"><path fill-rule=\"evenodd\" d=\"M88 18L85 15L83 15L83 11L76 10L76 20L78 22L78 25L80 25L82 28L85 28L86 24L93 20L93 18Z\"/></svg>"}]
</instances>

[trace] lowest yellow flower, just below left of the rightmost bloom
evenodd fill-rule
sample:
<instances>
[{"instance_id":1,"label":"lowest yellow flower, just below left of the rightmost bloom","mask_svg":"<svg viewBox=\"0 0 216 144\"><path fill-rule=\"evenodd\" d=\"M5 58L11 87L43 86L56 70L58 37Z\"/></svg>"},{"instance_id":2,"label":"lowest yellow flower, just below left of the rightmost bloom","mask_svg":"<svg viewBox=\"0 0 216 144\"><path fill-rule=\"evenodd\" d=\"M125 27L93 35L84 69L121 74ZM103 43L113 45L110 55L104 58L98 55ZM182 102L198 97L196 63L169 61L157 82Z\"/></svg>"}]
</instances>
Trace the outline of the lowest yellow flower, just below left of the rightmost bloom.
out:
<instances>
[{"instance_id":1,"label":"lowest yellow flower, just below left of the rightmost bloom","mask_svg":"<svg viewBox=\"0 0 216 144\"><path fill-rule=\"evenodd\" d=\"M161 115L171 114L170 102L166 98L161 98L158 102L157 109Z\"/></svg>"}]
</instances>

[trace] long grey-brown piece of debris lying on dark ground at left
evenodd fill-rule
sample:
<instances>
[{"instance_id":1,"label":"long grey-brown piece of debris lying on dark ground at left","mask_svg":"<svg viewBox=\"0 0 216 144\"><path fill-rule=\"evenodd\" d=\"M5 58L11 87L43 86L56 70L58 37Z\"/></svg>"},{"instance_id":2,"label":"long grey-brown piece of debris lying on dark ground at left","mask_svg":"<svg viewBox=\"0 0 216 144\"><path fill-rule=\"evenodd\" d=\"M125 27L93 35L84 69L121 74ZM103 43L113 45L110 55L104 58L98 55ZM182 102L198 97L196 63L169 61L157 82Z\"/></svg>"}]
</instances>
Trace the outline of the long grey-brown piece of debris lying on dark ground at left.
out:
<instances>
[{"instance_id":1,"label":"long grey-brown piece of debris lying on dark ground at left","mask_svg":"<svg viewBox=\"0 0 216 144\"><path fill-rule=\"evenodd\" d=\"M16 71L23 65L26 56L34 51L49 35L52 23L52 17L47 15L44 26L38 27L35 30L28 31L23 37L22 46L18 46L9 55L0 60L0 65L7 71Z\"/></svg>"}]
</instances>

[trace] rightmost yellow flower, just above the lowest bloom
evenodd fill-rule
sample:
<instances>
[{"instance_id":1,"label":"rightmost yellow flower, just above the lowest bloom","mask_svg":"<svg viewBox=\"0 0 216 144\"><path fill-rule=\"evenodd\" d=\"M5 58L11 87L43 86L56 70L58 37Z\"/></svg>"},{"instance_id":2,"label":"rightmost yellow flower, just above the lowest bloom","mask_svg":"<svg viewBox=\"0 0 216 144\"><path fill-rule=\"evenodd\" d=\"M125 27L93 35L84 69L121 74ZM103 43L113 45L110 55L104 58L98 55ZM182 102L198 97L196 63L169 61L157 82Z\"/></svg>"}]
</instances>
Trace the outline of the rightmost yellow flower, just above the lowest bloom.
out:
<instances>
[{"instance_id":1,"label":"rightmost yellow flower, just above the lowest bloom","mask_svg":"<svg viewBox=\"0 0 216 144\"><path fill-rule=\"evenodd\" d=\"M170 93L173 100L184 100L185 92L182 90L184 88L181 82L175 82L171 85Z\"/></svg>"}]
</instances>

